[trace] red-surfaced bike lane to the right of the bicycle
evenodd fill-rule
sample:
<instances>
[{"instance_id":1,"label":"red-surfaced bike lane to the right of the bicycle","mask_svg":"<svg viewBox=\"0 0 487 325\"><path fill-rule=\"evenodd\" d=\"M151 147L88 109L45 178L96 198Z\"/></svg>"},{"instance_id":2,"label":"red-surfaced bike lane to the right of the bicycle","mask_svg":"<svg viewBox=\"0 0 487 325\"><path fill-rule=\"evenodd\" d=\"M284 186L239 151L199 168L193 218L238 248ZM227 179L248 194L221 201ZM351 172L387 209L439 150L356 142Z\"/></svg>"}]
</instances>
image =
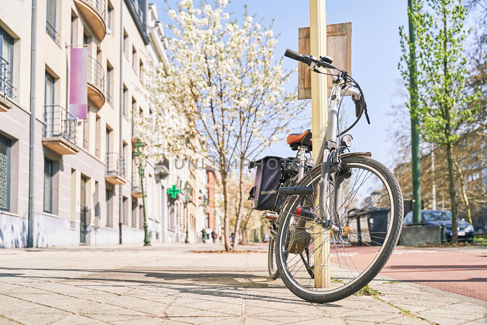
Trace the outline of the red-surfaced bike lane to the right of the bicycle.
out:
<instances>
[{"instance_id":1,"label":"red-surfaced bike lane to the right of the bicycle","mask_svg":"<svg viewBox=\"0 0 487 325\"><path fill-rule=\"evenodd\" d=\"M371 247L346 250L354 253L351 258L357 268L367 267L377 252ZM397 247L380 275L487 301L487 249L453 251Z\"/></svg>"}]
</instances>

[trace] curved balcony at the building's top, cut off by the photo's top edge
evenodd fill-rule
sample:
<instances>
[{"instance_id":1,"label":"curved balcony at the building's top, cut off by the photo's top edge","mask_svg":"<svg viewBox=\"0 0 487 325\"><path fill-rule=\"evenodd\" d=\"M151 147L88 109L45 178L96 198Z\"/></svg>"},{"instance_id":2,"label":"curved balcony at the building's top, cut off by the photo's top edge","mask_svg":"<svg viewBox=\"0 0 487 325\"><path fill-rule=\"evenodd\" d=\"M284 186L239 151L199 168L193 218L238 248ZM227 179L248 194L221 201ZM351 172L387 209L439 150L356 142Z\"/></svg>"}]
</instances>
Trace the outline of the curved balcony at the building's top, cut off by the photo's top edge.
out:
<instances>
[{"instance_id":1,"label":"curved balcony at the building's top, cut off by the photo's top edge","mask_svg":"<svg viewBox=\"0 0 487 325\"><path fill-rule=\"evenodd\" d=\"M75 4L101 42L107 34L105 0L75 0Z\"/></svg>"}]
</instances>

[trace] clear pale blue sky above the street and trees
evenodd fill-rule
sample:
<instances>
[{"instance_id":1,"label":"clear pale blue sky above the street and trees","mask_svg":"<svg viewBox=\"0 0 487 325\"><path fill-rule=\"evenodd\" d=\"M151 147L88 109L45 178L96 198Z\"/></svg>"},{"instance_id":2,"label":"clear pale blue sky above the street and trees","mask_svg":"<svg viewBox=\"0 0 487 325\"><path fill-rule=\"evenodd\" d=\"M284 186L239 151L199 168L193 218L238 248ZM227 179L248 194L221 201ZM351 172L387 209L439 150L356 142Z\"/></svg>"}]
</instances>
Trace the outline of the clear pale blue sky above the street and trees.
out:
<instances>
[{"instance_id":1,"label":"clear pale blue sky above the street and trees","mask_svg":"<svg viewBox=\"0 0 487 325\"><path fill-rule=\"evenodd\" d=\"M166 8L163 0L152 0L159 8L159 19L170 23L162 9ZM194 0L197 3L197 0ZM212 3L212 1L209 1ZM169 0L169 3L177 3ZM264 25L274 21L274 35L281 34L276 46L276 56L281 56L286 48L298 49L298 28L309 26L308 0L233 0L227 6L227 12L233 12L241 18L244 4L250 14L257 13L254 21L264 19ZM175 5L173 5L175 8ZM393 167L391 158L393 143L388 130L393 118L392 105L401 101L394 96L400 78L397 63L401 55L399 47L400 25L407 26L407 0L328 0L326 1L327 23L352 22L352 76L362 87L367 100L371 125L362 118L350 134L354 137L354 151L370 151L373 158L389 167ZM407 28L407 27L406 27ZM167 32L168 29L166 29ZM170 33L168 33L170 36ZM284 67L292 68L296 61L284 60ZM291 90L297 85L297 73L288 85ZM351 123L355 117L355 107L346 97L343 104L347 120ZM309 103L311 107L311 103ZM342 106L343 108L343 106ZM405 119L397 127L407 127L411 121ZM311 129L311 117L310 125ZM301 128L293 132L301 132ZM264 154L289 156L290 148L282 139L282 144L274 145Z\"/></svg>"}]
</instances>

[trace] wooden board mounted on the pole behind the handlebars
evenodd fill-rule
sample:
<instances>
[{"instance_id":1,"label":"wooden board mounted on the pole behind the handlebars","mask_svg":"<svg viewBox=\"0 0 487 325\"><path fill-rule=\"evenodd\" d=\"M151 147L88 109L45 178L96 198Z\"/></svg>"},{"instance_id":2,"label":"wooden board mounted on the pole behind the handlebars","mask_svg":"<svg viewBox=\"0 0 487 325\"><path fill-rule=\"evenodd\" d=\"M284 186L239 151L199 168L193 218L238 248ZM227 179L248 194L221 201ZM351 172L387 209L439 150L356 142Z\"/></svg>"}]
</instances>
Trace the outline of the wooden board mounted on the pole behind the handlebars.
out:
<instances>
[{"instance_id":1,"label":"wooden board mounted on the pole behind the handlebars","mask_svg":"<svg viewBox=\"0 0 487 325\"><path fill-rule=\"evenodd\" d=\"M310 55L309 27L298 32L298 52ZM326 55L333 58L333 65L352 76L352 23L344 22L326 26ZM308 66L298 63L298 99L311 99L311 73ZM328 97L332 90L332 78L328 76ZM351 95L348 93L348 95Z\"/></svg>"}]
</instances>

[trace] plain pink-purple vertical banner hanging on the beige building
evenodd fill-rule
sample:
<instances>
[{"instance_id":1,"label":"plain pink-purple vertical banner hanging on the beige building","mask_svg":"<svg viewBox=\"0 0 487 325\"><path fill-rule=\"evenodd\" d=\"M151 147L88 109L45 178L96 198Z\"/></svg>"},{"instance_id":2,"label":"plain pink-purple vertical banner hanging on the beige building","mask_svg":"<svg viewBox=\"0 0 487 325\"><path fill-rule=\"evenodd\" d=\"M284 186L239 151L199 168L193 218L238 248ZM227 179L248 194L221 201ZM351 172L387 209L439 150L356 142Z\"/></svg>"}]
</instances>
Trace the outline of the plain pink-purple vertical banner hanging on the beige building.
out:
<instances>
[{"instance_id":1,"label":"plain pink-purple vertical banner hanging on the beige building","mask_svg":"<svg viewBox=\"0 0 487 325\"><path fill-rule=\"evenodd\" d=\"M69 112L79 119L86 119L88 109L87 60L88 48L71 48Z\"/></svg>"}]
</instances>

